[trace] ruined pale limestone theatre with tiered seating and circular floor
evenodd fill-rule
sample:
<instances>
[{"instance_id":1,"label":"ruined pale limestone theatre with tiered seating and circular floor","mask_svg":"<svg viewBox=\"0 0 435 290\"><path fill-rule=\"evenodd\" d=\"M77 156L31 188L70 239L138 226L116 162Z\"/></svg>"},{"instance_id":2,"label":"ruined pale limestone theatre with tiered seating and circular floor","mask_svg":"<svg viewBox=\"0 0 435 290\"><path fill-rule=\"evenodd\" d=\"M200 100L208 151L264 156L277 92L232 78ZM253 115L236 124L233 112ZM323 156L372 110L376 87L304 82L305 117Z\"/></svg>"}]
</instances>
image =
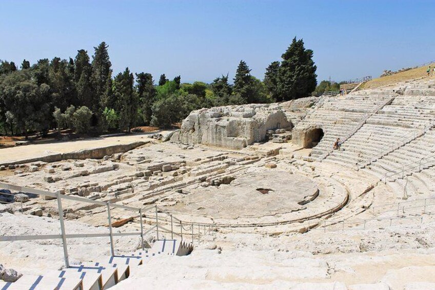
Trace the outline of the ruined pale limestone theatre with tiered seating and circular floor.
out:
<instances>
[{"instance_id":1,"label":"ruined pale limestone theatre with tiered seating and circular floor","mask_svg":"<svg viewBox=\"0 0 435 290\"><path fill-rule=\"evenodd\" d=\"M0 163L0 289L435 289L433 77Z\"/></svg>"}]
</instances>

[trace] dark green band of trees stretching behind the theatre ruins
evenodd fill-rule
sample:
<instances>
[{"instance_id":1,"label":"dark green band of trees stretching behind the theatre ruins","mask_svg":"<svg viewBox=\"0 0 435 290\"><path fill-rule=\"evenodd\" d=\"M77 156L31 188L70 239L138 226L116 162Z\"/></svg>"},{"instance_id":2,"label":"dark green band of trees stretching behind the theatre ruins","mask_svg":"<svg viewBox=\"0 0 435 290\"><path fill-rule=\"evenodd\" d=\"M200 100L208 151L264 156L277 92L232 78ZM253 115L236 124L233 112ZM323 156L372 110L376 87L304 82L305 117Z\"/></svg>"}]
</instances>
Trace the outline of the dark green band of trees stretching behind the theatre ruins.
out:
<instances>
[{"instance_id":1,"label":"dark green band of trees stretching behind the theatre ruins","mask_svg":"<svg viewBox=\"0 0 435 290\"><path fill-rule=\"evenodd\" d=\"M154 84L150 73L127 67L112 76L108 45L94 47L92 60L78 50L69 60L54 57L21 67L0 61L0 130L24 134L50 129L78 133L126 131L134 126L170 127L190 111L213 106L281 102L310 95L317 85L312 50L293 38L280 62L272 62L264 81L250 74L243 60L233 84L227 75L212 83L181 83L162 74Z\"/></svg>"}]
</instances>

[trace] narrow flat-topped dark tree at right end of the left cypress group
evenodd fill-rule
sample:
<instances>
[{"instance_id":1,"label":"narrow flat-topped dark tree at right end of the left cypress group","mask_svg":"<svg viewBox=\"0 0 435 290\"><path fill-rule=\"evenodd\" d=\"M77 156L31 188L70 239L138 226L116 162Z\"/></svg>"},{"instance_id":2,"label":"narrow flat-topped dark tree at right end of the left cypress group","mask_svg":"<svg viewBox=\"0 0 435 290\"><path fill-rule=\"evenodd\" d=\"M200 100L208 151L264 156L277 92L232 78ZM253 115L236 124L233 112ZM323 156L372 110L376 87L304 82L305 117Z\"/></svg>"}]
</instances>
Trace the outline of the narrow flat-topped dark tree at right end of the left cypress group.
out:
<instances>
[{"instance_id":1,"label":"narrow flat-topped dark tree at right end of the left cypress group","mask_svg":"<svg viewBox=\"0 0 435 290\"><path fill-rule=\"evenodd\" d=\"M150 73L136 73L136 92L140 103L141 117L149 125L152 117L152 104L155 101L155 88Z\"/></svg>"}]
</instances>

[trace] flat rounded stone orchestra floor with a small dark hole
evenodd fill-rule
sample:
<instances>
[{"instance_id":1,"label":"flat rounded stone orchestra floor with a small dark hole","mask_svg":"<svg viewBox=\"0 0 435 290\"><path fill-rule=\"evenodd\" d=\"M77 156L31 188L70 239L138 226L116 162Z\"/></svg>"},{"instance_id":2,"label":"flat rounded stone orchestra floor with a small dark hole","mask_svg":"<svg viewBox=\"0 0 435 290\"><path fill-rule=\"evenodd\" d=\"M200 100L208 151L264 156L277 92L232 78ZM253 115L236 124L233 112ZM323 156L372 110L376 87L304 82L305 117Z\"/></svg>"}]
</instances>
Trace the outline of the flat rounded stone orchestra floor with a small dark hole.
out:
<instances>
[{"instance_id":1,"label":"flat rounded stone orchestra floor with a small dark hole","mask_svg":"<svg viewBox=\"0 0 435 290\"><path fill-rule=\"evenodd\" d=\"M304 209L303 204L315 199L318 192L317 185L303 175L255 168L229 184L179 194L176 204L167 208L212 219L257 218Z\"/></svg>"}]
</instances>

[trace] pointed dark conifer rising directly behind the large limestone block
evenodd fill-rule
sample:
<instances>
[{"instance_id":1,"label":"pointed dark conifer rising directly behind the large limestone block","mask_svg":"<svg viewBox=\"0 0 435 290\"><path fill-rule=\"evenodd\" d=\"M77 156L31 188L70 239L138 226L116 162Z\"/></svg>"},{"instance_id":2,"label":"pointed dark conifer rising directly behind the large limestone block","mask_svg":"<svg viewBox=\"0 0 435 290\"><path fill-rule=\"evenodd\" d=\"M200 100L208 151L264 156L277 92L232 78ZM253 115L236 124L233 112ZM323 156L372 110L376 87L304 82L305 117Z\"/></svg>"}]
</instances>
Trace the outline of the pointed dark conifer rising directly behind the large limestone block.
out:
<instances>
[{"instance_id":1,"label":"pointed dark conifer rising directly behind the large limestone block","mask_svg":"<svg viewBox=\"0 0 435 290\"><path fill-rule=\"evenodd\" d=\"M253 82L250 69L244 61L240 61L235 72L233 93L240 95L243 103L254 103Z\"/></svg>"}]
</instances>

